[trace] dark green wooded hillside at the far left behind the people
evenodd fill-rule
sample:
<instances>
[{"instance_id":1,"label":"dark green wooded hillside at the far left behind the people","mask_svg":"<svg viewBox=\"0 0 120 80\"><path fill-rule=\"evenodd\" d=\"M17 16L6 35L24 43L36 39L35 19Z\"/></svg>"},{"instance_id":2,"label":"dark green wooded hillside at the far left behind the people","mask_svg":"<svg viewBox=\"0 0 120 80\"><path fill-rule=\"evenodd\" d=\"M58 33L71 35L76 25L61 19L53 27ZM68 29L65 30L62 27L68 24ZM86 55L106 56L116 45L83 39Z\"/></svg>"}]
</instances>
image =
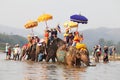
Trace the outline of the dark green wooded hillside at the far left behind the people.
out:
<instances>
[{"instance_id":1,"label":"dark green wooded hillside at the far left behind the people","mask_svg":"<svg viewBox=\"0 0 120 80\"><path fill-rule=\"evenodd\" d=\"M0 50L5 48L5 43L9 43L11 46L14 46L15 44L20 44L20 46L22 46L27 43L27 39L19 35L7 35L0 33Z\"/></svg>"}]
</instances>

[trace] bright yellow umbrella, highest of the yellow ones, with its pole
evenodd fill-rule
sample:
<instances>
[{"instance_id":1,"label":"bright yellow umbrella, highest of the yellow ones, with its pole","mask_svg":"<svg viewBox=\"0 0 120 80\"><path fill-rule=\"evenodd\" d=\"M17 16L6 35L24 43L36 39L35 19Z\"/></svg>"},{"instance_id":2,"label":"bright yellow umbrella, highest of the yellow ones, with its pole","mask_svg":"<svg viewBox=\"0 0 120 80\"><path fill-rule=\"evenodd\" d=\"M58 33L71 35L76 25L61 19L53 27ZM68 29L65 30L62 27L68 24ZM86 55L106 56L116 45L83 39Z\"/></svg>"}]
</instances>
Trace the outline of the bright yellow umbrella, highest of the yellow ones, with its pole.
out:
<instances>
[{"instance_id":1,"label":"bright yellow umbrella, highest of the yellow ones, with its pole","mask_svg":"<svg viewBox=\"0 0 120 80\"><path fill-rule=\"evenodd\" d=\"M37 21L38 22L44 22L45 21L46 28L48 28L47 21L50 20L50 19L52 19L52 18L53 17L50 14L43 14L43 15L41 15L41 16L38 17Z\"/></svg>"}]
</instances>

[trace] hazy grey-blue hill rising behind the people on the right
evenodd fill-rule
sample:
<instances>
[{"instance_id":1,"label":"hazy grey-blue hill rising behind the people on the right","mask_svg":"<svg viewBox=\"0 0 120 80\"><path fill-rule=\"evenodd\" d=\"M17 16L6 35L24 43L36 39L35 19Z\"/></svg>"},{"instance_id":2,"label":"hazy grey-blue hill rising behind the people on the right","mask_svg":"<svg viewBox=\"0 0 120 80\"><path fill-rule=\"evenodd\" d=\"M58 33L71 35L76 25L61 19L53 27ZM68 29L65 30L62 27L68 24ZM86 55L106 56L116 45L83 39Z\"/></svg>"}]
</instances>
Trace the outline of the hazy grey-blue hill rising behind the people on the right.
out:
<instances>
[{"instance_id":1,"label":"hazy grey-blue hill rising behind the people on the right","mask_svg":"<svg viewBox=\"0 0 120 80\"><path fill-rule=\"evenodd\" d=\"M84 34L84 42L88 46L98 44L98 40L103 38L105 40L112 40L114 43L120 41L120 28L97 28L81 31Z\"/></svg>"}]
</instances>

